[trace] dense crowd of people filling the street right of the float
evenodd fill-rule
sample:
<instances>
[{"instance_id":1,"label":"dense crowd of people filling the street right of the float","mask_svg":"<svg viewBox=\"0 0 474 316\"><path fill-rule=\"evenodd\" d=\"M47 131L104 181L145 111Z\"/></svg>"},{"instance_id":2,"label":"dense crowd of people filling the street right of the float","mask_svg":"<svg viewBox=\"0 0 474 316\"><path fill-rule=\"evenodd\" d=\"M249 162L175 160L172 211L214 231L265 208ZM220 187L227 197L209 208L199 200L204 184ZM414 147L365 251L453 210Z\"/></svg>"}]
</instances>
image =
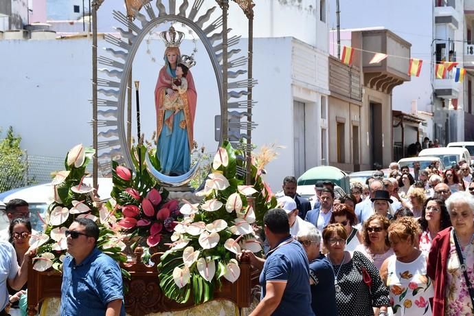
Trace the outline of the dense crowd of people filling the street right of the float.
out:
<instances>
[{"instance_id":1,"label":"dense crowd of people filling the street right of the float","mask_svg":"<svg viewBox=\"0 0 474 316\"><path fill-rule=\"evenodd\" d=\"M252 315L474 315L472 170L412 171L392 163L339 199L318 182L313 207L286 177L264 259L240 255L261 270Z\"/></svg>"}]
</instances>

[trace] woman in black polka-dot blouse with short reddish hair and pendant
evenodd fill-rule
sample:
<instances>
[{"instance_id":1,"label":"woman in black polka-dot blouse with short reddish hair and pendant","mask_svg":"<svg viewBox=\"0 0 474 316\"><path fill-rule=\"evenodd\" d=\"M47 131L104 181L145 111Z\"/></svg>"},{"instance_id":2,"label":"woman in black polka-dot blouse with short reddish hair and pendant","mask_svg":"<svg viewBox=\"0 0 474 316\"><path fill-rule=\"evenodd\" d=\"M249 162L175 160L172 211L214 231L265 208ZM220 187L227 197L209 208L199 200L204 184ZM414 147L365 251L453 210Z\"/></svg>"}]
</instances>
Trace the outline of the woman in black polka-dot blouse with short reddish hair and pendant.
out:
<instances>
[{"instance_id":1,"label":"woman in black polka-dot blouse with short reddish hair and pendant","mask_svg":"<svg viewBox=\"0 0 474 316\"><path fill-rule=\"evenodd\" d=\"M346 239L346 229L339 223L323 230L335 274L338 315L387 315L388 291L379 270L359 251L346 251Z\"/></svg>"}]
</instances>

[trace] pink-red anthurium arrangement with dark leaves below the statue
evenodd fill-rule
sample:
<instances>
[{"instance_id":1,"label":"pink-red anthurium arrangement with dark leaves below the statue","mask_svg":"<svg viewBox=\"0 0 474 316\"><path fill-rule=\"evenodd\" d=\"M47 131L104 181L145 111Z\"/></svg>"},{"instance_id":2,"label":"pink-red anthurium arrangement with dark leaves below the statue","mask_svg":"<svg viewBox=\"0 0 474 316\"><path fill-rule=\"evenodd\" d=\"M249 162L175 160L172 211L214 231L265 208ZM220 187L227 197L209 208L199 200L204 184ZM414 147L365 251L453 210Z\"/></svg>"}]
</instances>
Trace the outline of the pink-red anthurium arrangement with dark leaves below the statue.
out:
<instances>
[{"instance_id":1,"label":"pink-red anthurium arrangement with dark leaves below the statue","mask_svg":"<svg viewBox=\"0 0 474 316\"><path fill-rule=\"evenodd\" d=\"M131 245L135 249L137 245L144 247L144 262L148 262L150 248L159 250L163 244L170 242L170 236L174 226L183 216L179 212L178 201L168 199L168 191L161 190L157 181L150 176L148 170L139 166L136 157L143 154L146 147L134 146L133 163L137 172L117 162L112 164L113 189L111 196L115 199L114 210L120 216L118 225L128 233L128 238L133 240ZM109 205L111 207L112 205Z\"/></svg>"}]
</instances>

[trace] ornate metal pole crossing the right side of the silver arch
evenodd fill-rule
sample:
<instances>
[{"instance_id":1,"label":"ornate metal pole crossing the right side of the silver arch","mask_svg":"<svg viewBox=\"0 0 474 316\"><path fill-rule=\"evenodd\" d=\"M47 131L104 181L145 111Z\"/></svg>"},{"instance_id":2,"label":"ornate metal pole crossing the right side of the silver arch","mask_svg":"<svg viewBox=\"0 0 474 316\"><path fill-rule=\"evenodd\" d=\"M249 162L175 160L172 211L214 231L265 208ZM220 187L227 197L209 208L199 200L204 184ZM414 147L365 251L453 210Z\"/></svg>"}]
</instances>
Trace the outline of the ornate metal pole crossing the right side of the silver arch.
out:
<instances>
[{"instance_id":1,"label":"ornate metal pole crossing the right side of the silver arch","mask_svg":"<svg viewBox=\"0 0 474 316\"><path fill-rule=\"evenodd\" d=\"M222 17L223 17L223 24L222 24L222 56L223 56L223 63L222 63L222 93L223 93L223 111L222 111L222 128L221 128L221 139L227 140L229 137L227 135L229 131L229 119L227 117L227 100L228 100L228 93L227 93L227 68L228 68L228 54L227 54L227 46L228 46L228 36L227 36L227 10L229 10L229 0L221 0L221 8L222 8Z\"/></svg>"}]
</instances>

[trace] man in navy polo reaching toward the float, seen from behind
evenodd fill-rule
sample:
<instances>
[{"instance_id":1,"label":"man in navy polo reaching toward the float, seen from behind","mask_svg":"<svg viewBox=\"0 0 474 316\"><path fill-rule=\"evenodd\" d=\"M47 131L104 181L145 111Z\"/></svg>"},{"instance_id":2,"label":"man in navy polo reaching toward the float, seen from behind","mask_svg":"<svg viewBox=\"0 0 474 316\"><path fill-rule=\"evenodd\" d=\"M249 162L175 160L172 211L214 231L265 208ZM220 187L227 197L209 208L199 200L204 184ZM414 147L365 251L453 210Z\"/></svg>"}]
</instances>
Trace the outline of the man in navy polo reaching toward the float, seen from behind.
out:
<instances>
[{"instance_id":1,"label":"man in navy polo reaching toward the float, seen from behind","mask_svg":"<svg viewBox=\"0 0 474 316\"><path fill-rule=\"evenodd\" d=\"M269 210L264 218L264 232L271 250L267 260L259 260L246 251L253 266L262 268L262 300L251 316L314 315L311 308L308 258L291 235L288 216L282 209Z\"/></svg>"}]
</instances>

